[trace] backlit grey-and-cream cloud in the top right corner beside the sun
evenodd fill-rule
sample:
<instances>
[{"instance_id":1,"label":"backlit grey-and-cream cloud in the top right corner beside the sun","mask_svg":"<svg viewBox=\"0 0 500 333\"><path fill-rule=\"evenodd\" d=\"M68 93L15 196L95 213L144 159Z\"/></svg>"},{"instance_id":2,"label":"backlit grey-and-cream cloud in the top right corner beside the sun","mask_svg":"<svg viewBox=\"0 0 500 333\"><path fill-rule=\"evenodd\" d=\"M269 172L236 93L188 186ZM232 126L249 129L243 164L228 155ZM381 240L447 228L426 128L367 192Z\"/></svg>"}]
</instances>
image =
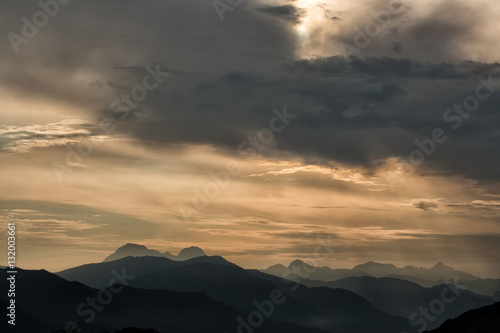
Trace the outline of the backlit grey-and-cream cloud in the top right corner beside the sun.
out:
<instances>
[{"instance_id":1,"label":"backlit grey-and-cream cloud in the top right corner beside the sun","mask_svg":"<svg viewBox=\"0 0 500 333\"><path fill-rule=\"evenodd\" d=\"M367 0L356 3L356 11L344 13L339 29L322 33L332 44L340 42L355 46L358 29L377 24L373 13L387 10L387 1ZM401 1L392 8L395 15L382 23L380 33L361 48L365 56L414 57L432 62L455 62L477 57L475 47L495 40L496 8L487 2L446 0L439 3ZM372 13L372 14L370 14ZM498 50L486 55L489 61L498 59Z\"/></svg>"}]
</instances>

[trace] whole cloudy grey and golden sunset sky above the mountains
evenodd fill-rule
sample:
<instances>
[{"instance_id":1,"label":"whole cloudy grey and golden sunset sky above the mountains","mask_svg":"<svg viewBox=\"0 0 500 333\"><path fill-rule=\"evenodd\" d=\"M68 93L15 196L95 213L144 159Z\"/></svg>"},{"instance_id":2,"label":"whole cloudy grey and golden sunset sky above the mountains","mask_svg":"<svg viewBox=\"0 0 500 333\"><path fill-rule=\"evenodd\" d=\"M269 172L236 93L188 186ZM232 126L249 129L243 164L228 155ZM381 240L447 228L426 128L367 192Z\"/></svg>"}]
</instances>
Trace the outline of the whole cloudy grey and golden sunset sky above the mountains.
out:
<instances>
[{"instance_id":1,"label":"whole cloudy grey and golden sunset sky above the mountains","mask_svg":"<svg viewBox=\"0 0 500 333\"><path fill-rule=\"evenodd\" d=\"M15 222L17 264L49 271L138 243L500 278L499 14L2 0L0 242Z\"/></svg>"}]
</instances>

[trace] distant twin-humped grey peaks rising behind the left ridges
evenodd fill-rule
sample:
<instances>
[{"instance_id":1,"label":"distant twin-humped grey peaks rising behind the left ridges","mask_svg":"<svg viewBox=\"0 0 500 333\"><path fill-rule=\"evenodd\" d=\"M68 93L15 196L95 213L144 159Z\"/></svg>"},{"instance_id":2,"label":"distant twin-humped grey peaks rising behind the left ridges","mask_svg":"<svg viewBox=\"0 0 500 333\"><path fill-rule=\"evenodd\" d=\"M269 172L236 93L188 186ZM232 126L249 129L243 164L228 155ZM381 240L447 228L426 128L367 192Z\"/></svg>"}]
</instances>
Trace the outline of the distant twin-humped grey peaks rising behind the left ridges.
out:
<instances>
[{"instance_id":1,"label":"distant twin-humped grey peaks rising behind the left ridges","mask_svg":"<svg viewBox=\"0 0 500 333\"><path fill-rule=\"evenodd\" d=\"M170 252L164 252L161 253L156 250L151 250L148 249L144 245L139 245L139 244L133 244L133 243L127 243L123 245L122 247L118 248L113 254L109 255L104 259L104 262L107 261L113 261L113 260L118 260L122 259L125 257L145 257L145 256L150 256L150 257L165 257L171 260L188 260L196 257L201 257L201 256L206 256L205 252L203 252L202 249L199 247L191 246L185 249L182 249L179 254L173 255Z\"/></svg>"}]
</instances>

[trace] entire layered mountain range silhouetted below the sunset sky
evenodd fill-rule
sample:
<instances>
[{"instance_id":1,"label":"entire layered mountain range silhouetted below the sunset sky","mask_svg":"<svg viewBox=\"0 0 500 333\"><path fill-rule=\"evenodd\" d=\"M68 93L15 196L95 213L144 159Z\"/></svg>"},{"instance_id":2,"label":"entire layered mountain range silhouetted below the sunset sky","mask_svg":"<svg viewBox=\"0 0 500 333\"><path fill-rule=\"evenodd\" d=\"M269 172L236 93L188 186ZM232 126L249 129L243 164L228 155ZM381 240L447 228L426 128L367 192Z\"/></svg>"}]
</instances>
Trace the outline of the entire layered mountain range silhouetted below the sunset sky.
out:
<instances>
[{"instance_id":1,"label":"entire layered mountain range silhouetted below the sunset sky","mask_svg":"<svg viewBox=\"0 0 500 333\"><path fill-rule=\"evenodd\" d=\"M500 296L498 280L442 263L332 269L295 260L259 271L197 247L173 256L130 243L100 263L18 271L19 325L12 331L2 323L2 331L62 332L69 325L82 333L414 333L409 318L443 295L453 300L425 329L445 327ZM0 284L7 289L5 279ZM7 305L3 293L0 305Z\"/></svg>"}]
</instances>

